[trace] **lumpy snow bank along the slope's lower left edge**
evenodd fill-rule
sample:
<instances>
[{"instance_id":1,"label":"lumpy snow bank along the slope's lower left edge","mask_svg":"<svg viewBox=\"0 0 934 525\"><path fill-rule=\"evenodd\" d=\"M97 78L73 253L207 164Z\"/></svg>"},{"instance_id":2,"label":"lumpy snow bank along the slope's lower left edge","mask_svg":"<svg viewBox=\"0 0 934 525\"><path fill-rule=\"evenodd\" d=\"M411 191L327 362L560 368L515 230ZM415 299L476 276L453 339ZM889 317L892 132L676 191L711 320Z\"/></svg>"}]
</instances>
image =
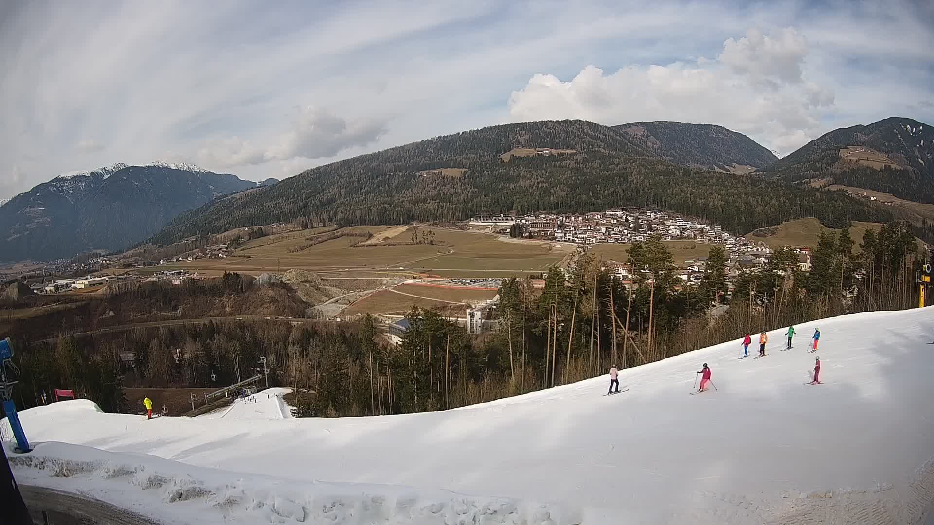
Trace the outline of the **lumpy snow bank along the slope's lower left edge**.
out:
<instances>
[{"instance_id":1,"label":"lumpy snow bank along the slope's lower left edge","mask_svg":"<svg viewBox=\"0 0 934 525\"><path fill-rule=\"evenodd\" d=\"M235 475L64 443L7 455L20 482L90 492L170 523L553 523L545 505L446 490Z\"/></svg>"}]
</instances>

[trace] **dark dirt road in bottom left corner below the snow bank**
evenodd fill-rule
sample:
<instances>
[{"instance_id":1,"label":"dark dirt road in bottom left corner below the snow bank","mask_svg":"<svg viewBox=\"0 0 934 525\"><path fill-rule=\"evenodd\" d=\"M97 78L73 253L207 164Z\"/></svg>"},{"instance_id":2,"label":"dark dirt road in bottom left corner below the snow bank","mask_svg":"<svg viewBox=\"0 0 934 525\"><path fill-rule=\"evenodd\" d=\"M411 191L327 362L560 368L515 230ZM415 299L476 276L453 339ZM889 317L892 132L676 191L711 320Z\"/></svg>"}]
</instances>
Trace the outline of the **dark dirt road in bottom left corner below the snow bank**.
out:
<instances>
[{"instance_id":1,"label":"dark dirt road in bottom left corner below the snow bank","mask_svg":"<svg viewBox=\"0 0 934 525\"><path fill-rule=\"evenodd\" d=\"M159 525L153 519L81 494L30 485L20 485L20 493L35 523L46 523L48 519L49 525Z\"/></svg>"}]
</instances>

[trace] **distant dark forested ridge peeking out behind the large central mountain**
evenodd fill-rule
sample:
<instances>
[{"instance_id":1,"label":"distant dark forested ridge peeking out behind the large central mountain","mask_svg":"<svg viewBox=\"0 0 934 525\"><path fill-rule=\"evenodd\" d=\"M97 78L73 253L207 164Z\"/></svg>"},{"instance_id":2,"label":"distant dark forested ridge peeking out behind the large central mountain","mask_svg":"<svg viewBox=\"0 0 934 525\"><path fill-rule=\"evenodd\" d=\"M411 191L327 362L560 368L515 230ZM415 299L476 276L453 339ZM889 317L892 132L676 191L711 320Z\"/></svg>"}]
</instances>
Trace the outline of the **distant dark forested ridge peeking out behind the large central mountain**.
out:
<instances>
[{"instance_id":1,"label":"distant dark forested ridge peeking out behind the large central mountain","mask_svg":"<svg viewBox=\"0 0 934 525\"><path fill-rule=\"evenodd\" d=\"M713 124L630 122L614 129L629 135L653 155L689 166L748 173L778 160L748 136Z\"/></svg>"}]
</instances>

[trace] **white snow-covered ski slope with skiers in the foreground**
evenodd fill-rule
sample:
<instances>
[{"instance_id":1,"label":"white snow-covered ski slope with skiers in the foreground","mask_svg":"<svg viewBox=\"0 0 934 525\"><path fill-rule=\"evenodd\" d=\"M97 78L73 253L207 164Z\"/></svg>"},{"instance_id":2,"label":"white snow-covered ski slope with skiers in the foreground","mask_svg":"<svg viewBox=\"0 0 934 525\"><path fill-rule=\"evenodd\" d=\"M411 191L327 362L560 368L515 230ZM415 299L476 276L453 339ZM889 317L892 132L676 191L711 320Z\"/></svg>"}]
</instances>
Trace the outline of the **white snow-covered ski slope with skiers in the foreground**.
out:
<instances>
[{"instance_id":1,"label":"white snow-covered ski slope with skiers in the foreground","mask_svg":"<svg viewBox=\"0 0 934 525\"><path fill-rule=\"evenodd\" d=\"M148 422L63 402L21 413L36 447L11 462L177 523L923 523L934 307L796 328L759 360L737 339L621 371L611 396L602 376L428 414ZM717 390L686 395L704 362Z\"/></svg>"}]
</instances>

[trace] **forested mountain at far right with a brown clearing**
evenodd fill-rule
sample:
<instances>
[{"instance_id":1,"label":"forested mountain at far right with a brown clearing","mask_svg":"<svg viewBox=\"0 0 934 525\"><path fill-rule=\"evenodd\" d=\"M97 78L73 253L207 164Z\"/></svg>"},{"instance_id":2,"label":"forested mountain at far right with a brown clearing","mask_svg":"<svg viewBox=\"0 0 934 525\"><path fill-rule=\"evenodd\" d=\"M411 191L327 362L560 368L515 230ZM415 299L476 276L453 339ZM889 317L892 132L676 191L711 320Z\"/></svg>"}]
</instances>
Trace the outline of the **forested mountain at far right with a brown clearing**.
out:
<instances>
[{"instance_id":1,"label":"forested mountain at far right with a brown clearing","mask_svg":"<svg viewBox=\"0 0 934 525\"><path fill-rule=\"evenodd\" d=\"M836 129L759 171L934 203L934 127L891 117Z\"/></svg>"}]
</instances>

